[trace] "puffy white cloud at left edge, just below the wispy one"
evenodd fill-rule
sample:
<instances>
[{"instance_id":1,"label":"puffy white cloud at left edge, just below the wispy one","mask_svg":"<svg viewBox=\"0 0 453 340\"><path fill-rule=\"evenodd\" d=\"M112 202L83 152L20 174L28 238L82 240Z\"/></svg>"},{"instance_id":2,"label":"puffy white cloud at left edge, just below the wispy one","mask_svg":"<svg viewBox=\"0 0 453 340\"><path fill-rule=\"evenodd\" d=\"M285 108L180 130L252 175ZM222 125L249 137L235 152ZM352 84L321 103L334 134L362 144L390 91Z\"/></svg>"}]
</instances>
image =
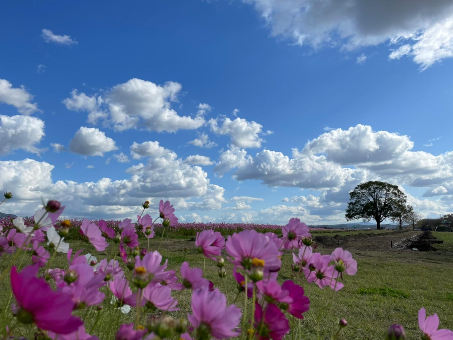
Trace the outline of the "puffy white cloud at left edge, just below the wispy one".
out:
<instances>
[{"instance_id":1,"label":"puffy white cloud at left edge, just below the wispy one","mask_svg":"<svg viewBox=\"0 0 453 340\"><path fill-rule=\"evenodd\" d=\"M35 154L44 150L36 147L44 136L44 122L29 116L0 115L0 154L23 149Z\"/></svg>"}]
</instances>

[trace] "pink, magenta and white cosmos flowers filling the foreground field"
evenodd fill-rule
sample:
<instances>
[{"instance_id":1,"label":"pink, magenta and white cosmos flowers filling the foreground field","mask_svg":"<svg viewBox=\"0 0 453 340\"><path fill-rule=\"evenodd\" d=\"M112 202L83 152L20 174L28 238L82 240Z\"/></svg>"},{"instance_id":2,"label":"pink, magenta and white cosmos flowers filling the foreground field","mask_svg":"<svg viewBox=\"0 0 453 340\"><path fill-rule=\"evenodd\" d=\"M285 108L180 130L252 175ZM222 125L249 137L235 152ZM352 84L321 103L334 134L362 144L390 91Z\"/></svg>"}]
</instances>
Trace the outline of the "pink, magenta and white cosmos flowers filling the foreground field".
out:
<instances>
[{"instance_id":1,"label":"pink, magenta and white cosmos flowers filling the foreground field","mask_svg":"<svg viewBox=\"0 0 453 340\"><path fill-rule=\"evenodd\" d=\"M321 253L317 230L297 218L178 223L163 200L119 222L61 219L64 208L50 200L30 219L2 221L0 339L406 339L400 324L345 337L336 302L357 261L342 248ZM171 252L165 233L180 230L195 242ZM418 339L453 339L423 306L418 326Z\"/></svg>"}]
</instances>

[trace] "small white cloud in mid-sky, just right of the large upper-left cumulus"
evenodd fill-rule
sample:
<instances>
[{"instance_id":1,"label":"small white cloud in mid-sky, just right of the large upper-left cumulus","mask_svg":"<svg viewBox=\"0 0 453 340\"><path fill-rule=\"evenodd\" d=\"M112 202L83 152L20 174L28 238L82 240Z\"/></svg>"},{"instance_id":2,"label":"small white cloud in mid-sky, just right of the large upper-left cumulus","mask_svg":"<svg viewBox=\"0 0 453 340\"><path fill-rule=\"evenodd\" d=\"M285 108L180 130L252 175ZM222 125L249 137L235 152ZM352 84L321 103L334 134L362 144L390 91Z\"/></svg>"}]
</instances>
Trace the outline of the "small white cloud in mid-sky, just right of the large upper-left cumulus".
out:
<instances>
[{"instance_id":1,"label":"small white cloud in mid-sky, just right of the large upper-left cumulus","mask_svg":"<svg viewBox=\"0 0 453 340\"><path fill-rule=\"evenodd\" d=\"M218 125L221 122L222 125ZM231 144L241 148L259 148L263 140L259 137L262 125L255 121L246 121L243 118L217 118L210 119L211 131L217 135L227 135L231 138Z\"/></svg>"}]
</instances>

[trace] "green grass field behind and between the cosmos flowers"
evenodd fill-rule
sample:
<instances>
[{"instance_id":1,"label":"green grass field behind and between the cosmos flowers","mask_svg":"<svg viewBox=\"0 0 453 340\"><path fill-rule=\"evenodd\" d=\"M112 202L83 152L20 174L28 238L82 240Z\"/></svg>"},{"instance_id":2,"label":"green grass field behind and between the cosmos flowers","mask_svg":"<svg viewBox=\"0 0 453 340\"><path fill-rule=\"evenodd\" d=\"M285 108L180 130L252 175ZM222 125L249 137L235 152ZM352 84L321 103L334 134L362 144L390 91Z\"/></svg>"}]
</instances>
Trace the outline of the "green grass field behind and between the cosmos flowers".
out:
<instances>
[{"instance_id":1,"label":"green grass field behind and between the cosmos flowers","mask_svg":"<svg viewBox=\"0 0 453 340\"><path fill-rule=\"evenodd\" d=\"M353 277L345 277L345 287L333 294L331 290L321 290L318 286L308 285L304 279L299 283L304 287L306 295L310 298L314 315L326 302L333 299L333 307L323 314L320 339L330 339L337 330L337 322L340 318L348 321L348 326L343 330L338 339L383 339L388 326L400 323L405 326L407 339L419 339L417 312L421 307L427 310L427 314L438 313L441 328L453 328L453 233L433 233L436 238L444 241L436 245L436 252L418 252L413 250L397 250L390 248L390 240L395 242L401 238L409 237L417 232L397 233L392 231L347 231L347 232L322 232L314 233L313 236L323 236L318 242L317 251L331 253L337 246L351 251L358 262L358 272ZM335 235L339 235L335 236ZM326 238L329 238L326 240ZM331 242L333 241L334 242ZM159 247L160 238L150 240L150 248ZM77 243L78 245L78 243ZM77 248L76 244L73 244ZM147 247L146 240L141 240L141 246ZM93 252L93 248L83 244L83 253ZM189 250L184 251L185 248ZM110 246L104 254L97 253L98 260L107 257ZM169 269L175 269L179 274L181 263L186 260L191 267L203 268L203 257L197 252L194 242L190 238L164 238L161 245L161 253L169 259ZM1 267L5 267L2 257ZM65 254L58 254L56 266L67 267ZM280 271L279 280L288 280L291 277L290 264L292 256L285 252L282 257L283 267ZM232 266L227 264L226 269L231 273ZM127 269L126 269L127 271ZM217 275L217 267L211 260L206 261L206 276L216 287L225 292L221 279ZM8 301L10 289L2 282L0 301ZM233 277L225 278L226 291L230 303L237 295L236 281ZM180 311L168 313L170 316L185 316L190 312L190 292L175 291L174 296L178 299ZM243 293L236 301L236 305L242 307ZM109 310L105 304L105 310ZM127 315L116 313L120 322L132 322L135 309ZM90 330L96 320L95 308L88 311L85 316L86 329ZM80 313L86 314L85 311ZM148 316L156 316L149 314ZM314 322L310 312L306 313L301 322L302 339L316 339ZM100 316L102 319L102 315ZM290 321L291 322L291 321ZM297 327L297 321L295 327ZM14 326L14 325L13 325ZM92 334L100 339L108 339L110 327L117 329L116 320L102 322L92 330ZM26 331L19 328L14 334ZM32 332L28 336L32 338ZM291 339L291 335L287 335Z\"/></svg>"}]
</instances>

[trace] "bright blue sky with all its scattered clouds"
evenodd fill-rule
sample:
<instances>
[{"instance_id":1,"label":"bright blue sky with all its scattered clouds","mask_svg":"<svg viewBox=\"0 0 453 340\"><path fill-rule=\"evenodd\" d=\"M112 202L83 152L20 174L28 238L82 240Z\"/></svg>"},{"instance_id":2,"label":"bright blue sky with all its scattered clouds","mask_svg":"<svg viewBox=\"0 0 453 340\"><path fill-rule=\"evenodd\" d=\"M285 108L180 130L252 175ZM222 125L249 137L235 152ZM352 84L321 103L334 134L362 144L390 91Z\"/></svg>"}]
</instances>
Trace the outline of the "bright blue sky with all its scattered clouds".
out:
<instances>
[{"instance_id":1,"label":"bright blue sky with all its scattered clouds","mask_svg":"<svg viewBox=\"0 0 453 340\"><path fill-rule=\"evenodd\" d=\"M1 211L338 223L378 179L452 212L453 7L385 2L3 3Z\"/></svg>"}]
</instances>

